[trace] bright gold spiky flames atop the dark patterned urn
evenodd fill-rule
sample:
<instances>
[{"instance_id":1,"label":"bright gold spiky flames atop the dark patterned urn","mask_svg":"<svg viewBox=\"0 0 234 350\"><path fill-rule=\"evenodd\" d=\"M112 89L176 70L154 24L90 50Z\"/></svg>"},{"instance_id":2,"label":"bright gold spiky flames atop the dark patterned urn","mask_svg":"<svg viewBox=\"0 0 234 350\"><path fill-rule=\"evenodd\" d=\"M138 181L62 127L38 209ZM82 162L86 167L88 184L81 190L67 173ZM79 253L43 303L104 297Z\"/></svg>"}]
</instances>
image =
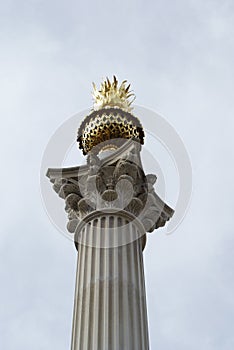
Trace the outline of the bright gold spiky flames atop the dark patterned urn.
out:
<instances>
[{"instance_id":1,"label":"bright gold spiky flames atop the dark patterned urn","mask_svg":"<svg viewBox=\"0 0 234 350\"><path fill-rule=\"evenodd\" d=\"M108 78L101 83L98 90L93 83L93 98L94 98L94 110L99 110L104 107L119 107L126 112L131 112L131 104L135 100L135 95L130 91L130 84L127 84L127 80L124 80L120 86L118 86L118 80L116 76L113 76L113 81L110 82ZM132 99L130 99L132 97Z\"/></svg>"}]
</instances>

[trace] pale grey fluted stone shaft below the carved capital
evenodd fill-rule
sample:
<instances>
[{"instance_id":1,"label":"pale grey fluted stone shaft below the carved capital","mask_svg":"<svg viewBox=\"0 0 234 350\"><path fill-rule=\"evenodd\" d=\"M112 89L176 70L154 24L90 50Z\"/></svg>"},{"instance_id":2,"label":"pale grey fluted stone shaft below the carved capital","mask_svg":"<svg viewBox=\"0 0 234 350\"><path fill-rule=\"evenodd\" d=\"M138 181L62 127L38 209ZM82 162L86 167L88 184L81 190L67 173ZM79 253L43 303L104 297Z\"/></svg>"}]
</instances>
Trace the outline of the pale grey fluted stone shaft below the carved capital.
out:
<instances>
[{"instance_id":1,"label":"pale grey fluted stone shaft below the carved capital","mask_svg":"<svg viewBox=\"0 0 234 350\"><path fill-rule=\"evenodd\" d=\"M149 349L139 231L105 214L78 232L72 350Z\"/></svg>"}]
</instances>

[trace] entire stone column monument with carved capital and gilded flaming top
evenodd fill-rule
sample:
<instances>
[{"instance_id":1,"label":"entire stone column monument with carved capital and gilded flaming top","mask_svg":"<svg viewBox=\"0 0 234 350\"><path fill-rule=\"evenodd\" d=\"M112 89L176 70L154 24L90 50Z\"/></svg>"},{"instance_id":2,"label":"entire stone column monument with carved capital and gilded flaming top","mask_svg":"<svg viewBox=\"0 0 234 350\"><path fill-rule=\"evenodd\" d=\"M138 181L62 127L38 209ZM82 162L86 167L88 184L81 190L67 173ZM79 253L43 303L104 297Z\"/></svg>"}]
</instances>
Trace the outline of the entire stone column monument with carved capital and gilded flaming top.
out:
<instances>
[{"instance_id":1,"label":"entire stone column monument with carved capital and gilded flaming top","mask_svg":"<svg viewBox=\"0 0 234 350\"><path fill-rule=\"evenodd\" d=\"M143 250L173 210L141 163L144 130L126 81L94 85L77 141L85 165L48 169L78 252L71 350L149 349Z\"/></svg>"}]
</instances>

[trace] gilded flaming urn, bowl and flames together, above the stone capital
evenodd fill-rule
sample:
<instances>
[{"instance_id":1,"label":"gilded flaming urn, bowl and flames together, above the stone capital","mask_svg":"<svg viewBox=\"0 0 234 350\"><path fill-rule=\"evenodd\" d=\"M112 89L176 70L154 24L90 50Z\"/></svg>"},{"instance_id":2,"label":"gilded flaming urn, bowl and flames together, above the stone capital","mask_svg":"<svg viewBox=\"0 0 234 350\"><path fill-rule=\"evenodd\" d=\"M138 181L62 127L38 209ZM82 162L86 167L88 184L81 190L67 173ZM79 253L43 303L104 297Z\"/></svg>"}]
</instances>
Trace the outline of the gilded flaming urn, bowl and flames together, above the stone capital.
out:
<instances>
[{"instance_id":1,"label":"gilded flaming urn, bowl and flames together, above the stone capital","mask_svg":"<svg viewBox=\"0 0 234 350\"><path fill-rule=\"evenodd\" d=\"M78 129L77 141L83 154L119 148L126 139L144 143L144 130L140 120L131 113L131 103L135 95L130 91L130 84L124 80L118 86L113 77L101 83L100 90L94 86L94 108L82 121ZM132 99L131 99L132 97Z\"/></svg>"}]
</instances>

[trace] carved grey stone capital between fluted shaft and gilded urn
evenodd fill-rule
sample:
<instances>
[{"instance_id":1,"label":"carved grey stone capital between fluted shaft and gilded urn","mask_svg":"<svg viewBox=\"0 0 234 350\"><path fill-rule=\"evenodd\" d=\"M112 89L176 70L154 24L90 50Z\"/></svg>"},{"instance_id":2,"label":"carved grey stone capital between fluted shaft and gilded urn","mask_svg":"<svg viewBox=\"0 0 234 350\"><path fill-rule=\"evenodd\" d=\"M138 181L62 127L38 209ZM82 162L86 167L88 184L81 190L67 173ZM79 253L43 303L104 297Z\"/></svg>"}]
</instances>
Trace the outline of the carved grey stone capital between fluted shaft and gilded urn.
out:
<instances>
[{"instance_id":1,"label":"carved grey stone capital between fluted shaft and gilded urn","mask_svg":"<svg viewBox=\"0 0 234 350\"><path fill-rule=\"evenodd\" d=\"M156 175L145 175L142 170L140 148L138 142L128 140L104 159L90 153L87 165L48 170L54 190L65 200L69 232L75 232L86 215L102 208L133 214L146 232L171 218L173 209L154 191Z\"/></svg>"}]
</instances>

